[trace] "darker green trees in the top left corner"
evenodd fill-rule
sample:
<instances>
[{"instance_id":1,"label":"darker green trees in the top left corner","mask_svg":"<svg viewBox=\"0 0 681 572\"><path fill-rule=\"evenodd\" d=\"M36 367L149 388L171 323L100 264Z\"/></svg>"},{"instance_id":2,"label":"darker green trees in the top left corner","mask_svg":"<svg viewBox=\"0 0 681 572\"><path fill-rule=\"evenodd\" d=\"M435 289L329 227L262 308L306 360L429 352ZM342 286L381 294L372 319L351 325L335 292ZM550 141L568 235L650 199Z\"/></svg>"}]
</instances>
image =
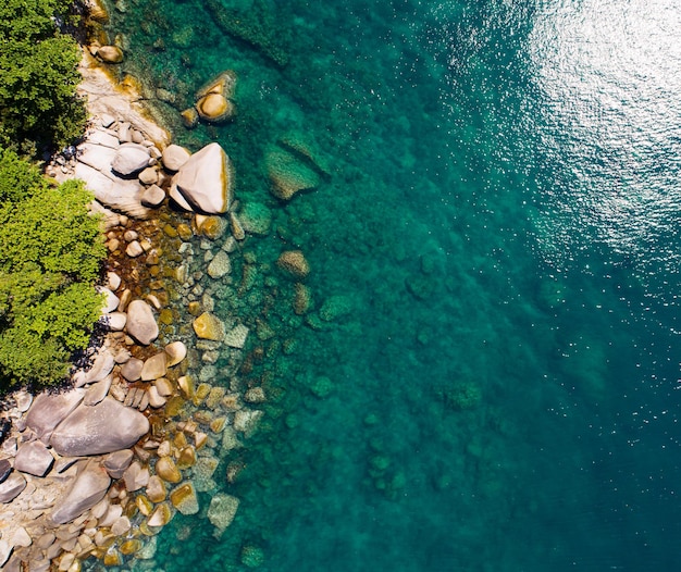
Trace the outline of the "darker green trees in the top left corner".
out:
<instances>
[{"instance_id":1,"label":"darker green trees in the top left corner","mask_svg":"<svg viewBox=\"0 0 681 572\"><path fill-rule=\"evenodd\" d=\"M81 58L57 22L73 23L71 0L0 2L0 145L35 156L71 144L87 119L76 96Z\"/></svg>"}]
</instances>

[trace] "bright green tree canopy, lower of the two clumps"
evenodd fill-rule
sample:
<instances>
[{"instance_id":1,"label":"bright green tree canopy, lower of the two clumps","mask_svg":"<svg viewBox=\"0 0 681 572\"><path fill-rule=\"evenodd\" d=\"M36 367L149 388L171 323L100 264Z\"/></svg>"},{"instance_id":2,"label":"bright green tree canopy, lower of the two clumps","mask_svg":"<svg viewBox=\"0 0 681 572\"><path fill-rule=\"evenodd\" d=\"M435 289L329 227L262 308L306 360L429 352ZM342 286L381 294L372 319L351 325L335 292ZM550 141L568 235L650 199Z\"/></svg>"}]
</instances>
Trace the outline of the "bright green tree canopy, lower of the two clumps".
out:
<instances>
[{"instance_id":1,"label":"bright green tree canopy, lower of the two clumps","mask_svg":"<svg viewBox=\"0 0 681 572\"><path fill-rule=\"evenodd\" d=\"M0 388L58 383L89 341L106 254L91 199L0 149Z\"/></svg>"}]
</instances>

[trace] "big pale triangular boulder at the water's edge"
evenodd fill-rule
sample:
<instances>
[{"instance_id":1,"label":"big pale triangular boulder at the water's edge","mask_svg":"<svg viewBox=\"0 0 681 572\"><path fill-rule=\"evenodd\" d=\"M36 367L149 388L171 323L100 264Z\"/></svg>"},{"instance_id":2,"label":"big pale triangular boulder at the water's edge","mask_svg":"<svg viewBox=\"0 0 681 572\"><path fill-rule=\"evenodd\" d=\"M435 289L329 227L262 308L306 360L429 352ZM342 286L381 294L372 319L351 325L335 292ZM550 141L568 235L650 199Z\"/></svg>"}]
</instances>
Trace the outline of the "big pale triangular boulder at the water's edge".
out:
<instances>
[{"instance_id":1,"label":"big pale triangular boulder at the water's edge","mask_svg":"<svg viewBox=\"0 0 681 572\"><path fill-rule=\"evenodd\" d=\"M223 214L232 204L233 186L232 162L222 147L212 142L179 167L173 177L171 197L181 195L193 210Z\"/></svg>"}]
</instances>

